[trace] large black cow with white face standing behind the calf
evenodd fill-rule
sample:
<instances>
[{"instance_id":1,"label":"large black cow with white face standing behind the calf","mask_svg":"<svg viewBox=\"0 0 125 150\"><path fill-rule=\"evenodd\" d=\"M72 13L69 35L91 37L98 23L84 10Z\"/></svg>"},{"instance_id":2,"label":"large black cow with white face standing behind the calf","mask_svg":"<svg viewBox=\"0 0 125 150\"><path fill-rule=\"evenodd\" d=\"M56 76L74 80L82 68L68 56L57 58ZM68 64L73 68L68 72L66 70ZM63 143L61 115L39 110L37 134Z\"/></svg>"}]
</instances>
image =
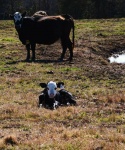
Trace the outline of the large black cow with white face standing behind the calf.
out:
<instances>
[{"instance_id":1,"label":"large black cow with white face standing behind the calf","mask_svg":"<svg viewBox=\"0 0 125 150\"><path fill-rule=\"evenodd\" d=\"M32 49L32 60L35 60L36 43L50 45L61 39L62 54L60 60L63 60L66 49L70 51L69 60L73 58L74 48L74 21L70 15L43 16L38 19L34 17L25 17L26 13L16 12L10 15L14 19L15 28L18 32L22 44L26 45L27 58L30 59L30 49ZM72 29L72 42L70 32Z\"/></svg>"}]
</instances>

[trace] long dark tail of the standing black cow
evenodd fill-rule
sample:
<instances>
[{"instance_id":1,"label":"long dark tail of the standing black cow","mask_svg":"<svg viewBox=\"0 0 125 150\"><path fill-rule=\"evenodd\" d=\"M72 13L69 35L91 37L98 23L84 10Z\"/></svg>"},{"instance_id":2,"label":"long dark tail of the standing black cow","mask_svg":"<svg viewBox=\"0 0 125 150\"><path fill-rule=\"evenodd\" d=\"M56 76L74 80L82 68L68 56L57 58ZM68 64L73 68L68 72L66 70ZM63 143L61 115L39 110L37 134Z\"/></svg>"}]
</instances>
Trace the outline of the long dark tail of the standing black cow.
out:
<instances>
[{"instance_id":1,"label":"long dark tail of the standing black cow","mask_svg":"<svg viewBox=\"0 0 125 150\"><path fill-rule=\"evenodd\" d=\"M75 25L74 25L74 19L72 16L68 15L68 14L63 14L62 15L66 20L69 20L71 28L72 28L72 43L73 43L73 48L75 46Z\"/></svg>"}]
</instances>

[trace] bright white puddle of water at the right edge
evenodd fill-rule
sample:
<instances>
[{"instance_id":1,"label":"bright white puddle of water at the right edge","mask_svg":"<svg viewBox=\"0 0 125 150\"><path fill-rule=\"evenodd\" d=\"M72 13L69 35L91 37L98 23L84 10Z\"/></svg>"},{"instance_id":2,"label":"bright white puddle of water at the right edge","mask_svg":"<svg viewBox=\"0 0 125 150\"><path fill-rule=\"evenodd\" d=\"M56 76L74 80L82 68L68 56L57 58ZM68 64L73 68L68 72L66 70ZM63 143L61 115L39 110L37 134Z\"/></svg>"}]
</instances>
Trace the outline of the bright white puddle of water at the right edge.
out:
<instances>
[{"instance_id":1,"label":"bright white puddle of water at the right edge","mask_svg":"<svg viewBox=\"0 0 125 150\"><path fill-rule=\"evenodd\" d=\"M125 53L124 54L116 54L116 55L113 55L111 57L109 57L109 61L110 63L122 63L122 64L125 64Z\"/></svg>"}]
</instances>

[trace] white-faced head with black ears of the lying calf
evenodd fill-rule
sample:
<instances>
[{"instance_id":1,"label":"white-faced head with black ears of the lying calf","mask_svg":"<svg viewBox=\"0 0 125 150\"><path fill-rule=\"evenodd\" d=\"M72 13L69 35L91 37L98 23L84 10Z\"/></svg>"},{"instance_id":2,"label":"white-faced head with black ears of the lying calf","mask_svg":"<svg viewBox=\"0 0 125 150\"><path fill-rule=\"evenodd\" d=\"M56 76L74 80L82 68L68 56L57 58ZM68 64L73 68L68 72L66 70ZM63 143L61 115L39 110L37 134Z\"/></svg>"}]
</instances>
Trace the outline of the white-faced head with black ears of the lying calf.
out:
<instances>
[{"instance_id":1,"label":"white-faced head with black ears of the lying calf","mask_svg":"<svg viewBox=\"0 0 125 150\"><path fill-rule=\"evenodd\" d=\"M64 83L63 82L53 82L50 81L47 84L46 83L40 83L40 86L42 88L46 88L47 92L48 92L48 96L49 98L54 98L56 96L57 93L57 88L63 88L64 87Z\"/></svg>"}]
</instances>

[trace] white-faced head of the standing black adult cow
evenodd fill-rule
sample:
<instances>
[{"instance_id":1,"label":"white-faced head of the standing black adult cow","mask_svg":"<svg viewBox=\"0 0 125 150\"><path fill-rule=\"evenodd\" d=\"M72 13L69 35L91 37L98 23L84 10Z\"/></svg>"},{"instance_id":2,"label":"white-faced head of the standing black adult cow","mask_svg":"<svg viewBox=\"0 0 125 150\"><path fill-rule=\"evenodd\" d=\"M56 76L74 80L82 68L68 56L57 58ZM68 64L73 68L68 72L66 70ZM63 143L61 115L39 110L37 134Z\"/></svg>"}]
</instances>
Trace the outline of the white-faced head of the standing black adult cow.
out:
<instances>
[{"instance_id":1,"label":"white-faced head of the standing black adult cow","mask_svg":"<svg viewBox=\"0 0 125 150\"><path fill-rule=\"evenodd\" d=\"M14 20L15 28L18 30L22 26L23 18L25 17L26 12L21 14L20 12L15 12L14 15L10 15L10 17Z\"/></svg>"}]
</instances>

